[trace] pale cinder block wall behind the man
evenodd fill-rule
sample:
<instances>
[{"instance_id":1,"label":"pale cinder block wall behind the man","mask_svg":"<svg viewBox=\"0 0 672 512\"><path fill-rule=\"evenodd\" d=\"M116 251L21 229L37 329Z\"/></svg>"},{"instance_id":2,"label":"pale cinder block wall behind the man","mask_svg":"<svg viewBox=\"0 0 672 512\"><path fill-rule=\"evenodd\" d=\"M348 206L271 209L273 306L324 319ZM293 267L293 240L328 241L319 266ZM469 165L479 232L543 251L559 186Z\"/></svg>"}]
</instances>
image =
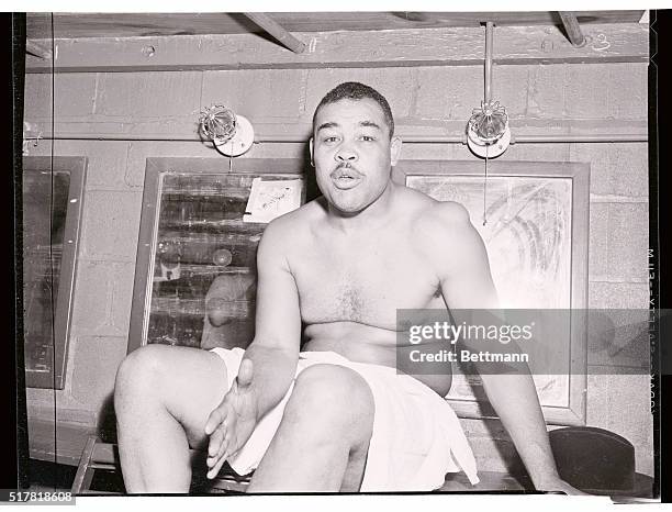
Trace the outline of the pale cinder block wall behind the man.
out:
<instances>
[{"instance_id":1,"label":"pale cinder block wall behind the man","mask_svg":"<svg viewBox=\"0 0 672 512\"><path fill-rule=\"evenodd\" d=\"M267 131L282 134L296 124L307 130L322 94L345 80L378 88L400 125L466 123L480 104L483 84L480 66L55 77L57 130L61 135L93 133L102 138L54 144L55 155L88 158L66 385L56 392L59 421L96 427L110 412L114 374L126 352L145 159L217 156L195 141L132 138L189 136L195 131L198 112L214 101L231 105ZM51 77L31 74L25 89L26 121L47 132ZM568 120L608 121L620 129L647 120L646 64L499 66L493 93L507 108L514 133L516 125L526 125L538 126L538 134L545 134L556 122ZM43 141L31 148L31 155L48 155L49 149L48 141ZM305 144L261 143L245 157L305 154ZM404 157L474 158L462 144L407 144ZM590 305L647 308L647 144L515 144L502 158L591 164ZM52 391L29 389L27 400L30 419L54 416ZM647 376L591 376L587 421L627 437L636 446L638 471L653 474ZM480 466L502 469L511 447L497 441L506 437L501 425L472 420L463 424Z\"/></svg>"}]
</instances>

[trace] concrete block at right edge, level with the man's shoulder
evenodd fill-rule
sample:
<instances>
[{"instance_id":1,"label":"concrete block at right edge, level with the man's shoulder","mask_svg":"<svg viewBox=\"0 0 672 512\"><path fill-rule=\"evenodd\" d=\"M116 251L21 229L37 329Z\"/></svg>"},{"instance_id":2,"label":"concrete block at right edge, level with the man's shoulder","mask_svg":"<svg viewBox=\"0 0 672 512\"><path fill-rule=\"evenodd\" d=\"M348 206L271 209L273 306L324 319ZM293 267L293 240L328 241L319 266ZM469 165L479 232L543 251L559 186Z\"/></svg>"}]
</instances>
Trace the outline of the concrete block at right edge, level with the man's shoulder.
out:
<instances>
[{"instance_id":1,"label":"concrete block at right edge, level with the man's shoulder","mask_svg":"<svg viewBox=\"0 0 672 512\"><path fill-rule=\"evenodd\" d=\"M647 282L649 204L611 203L608 232L609 279Z\"/></svg>"}]
</instances>

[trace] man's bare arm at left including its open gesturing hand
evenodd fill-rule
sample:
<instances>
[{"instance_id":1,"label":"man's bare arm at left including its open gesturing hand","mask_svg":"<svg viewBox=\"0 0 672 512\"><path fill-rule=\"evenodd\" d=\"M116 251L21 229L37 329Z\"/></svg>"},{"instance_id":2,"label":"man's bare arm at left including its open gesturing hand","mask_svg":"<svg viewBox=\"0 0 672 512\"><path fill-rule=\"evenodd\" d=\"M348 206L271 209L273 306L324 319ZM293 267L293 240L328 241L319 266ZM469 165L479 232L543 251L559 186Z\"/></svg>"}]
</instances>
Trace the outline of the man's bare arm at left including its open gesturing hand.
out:
<instances>
[{"instance_id":1,"label":"man's bare arm at left including its open gesturing hand","mask_svg":"<svg viewBox=\"0 0 672 512\"><path fill-rule=\"evenodd\" d=\"M238 375L222 403L210 413L208 478L245 445L259 420L287 393L299 361L301 315L299 292L283 247L288 219L271 222L257 252L257 315L255 338L240 361Z\"/></svg>"}]
</instances>

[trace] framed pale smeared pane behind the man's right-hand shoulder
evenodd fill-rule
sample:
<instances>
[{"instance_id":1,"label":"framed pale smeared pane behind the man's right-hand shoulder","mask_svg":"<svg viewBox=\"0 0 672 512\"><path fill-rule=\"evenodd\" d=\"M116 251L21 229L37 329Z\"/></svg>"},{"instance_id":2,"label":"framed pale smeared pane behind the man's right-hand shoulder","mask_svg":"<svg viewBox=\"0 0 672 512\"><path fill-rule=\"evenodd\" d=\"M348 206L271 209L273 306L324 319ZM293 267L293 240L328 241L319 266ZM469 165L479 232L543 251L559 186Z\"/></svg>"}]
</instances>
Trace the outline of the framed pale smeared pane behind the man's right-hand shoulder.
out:
<instances>
[{"instance_id":1,"label":"framed pale smeared pane behind the man's right-hand shoulder","mask_svg":"<svg viewBox=\"0 0 672 512\"><path fill-rule=\"evenodd\" d=\"M587 164L402 160L396 182L461 203L488 251L502 309L563 311L553 368L533 377L547 422L585 424L587 372ZM542 314L542 313L540 313ZM494 414L480 378L460 371L448 399L463 418Z\"/></svg>"}]
</instances>

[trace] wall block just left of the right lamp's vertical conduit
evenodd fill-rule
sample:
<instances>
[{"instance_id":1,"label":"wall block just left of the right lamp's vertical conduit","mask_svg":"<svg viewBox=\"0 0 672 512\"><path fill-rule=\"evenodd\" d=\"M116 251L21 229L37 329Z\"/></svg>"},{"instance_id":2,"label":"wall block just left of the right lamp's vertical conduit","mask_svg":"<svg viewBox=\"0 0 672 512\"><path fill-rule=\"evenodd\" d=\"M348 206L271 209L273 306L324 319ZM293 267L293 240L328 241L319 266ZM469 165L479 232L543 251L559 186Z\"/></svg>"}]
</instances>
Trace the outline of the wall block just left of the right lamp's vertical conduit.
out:
<instances>
[{"instance_id":1,"label":"wall block just left of the right lamp's vertical conduit","mask_svg":"<svg viewBox=\"0 0 672 512\"><path fill-rule=\"evenodd\" d=\"M421 119L471 118L483 101L482 66L419 68L414 115Z\"/></svg>"}]
</instances>

